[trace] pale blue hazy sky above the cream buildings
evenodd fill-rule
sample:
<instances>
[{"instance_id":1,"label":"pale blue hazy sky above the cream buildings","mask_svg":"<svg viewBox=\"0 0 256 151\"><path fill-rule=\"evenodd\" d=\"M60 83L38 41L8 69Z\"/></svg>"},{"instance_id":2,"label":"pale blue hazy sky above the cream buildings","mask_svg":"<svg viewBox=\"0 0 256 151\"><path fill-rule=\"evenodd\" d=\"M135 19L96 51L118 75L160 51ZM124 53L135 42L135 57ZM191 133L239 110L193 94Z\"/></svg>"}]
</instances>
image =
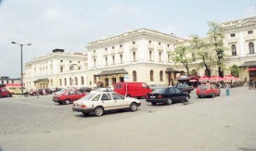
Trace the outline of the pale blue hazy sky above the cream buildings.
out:
<instances>
[{"instance_id":1,"label":"pale blue hazy sky above the cream buildings","mask_svg":"<svg viewBox=\"0 0 256 151\"><path fill-rule=\"evenodd\" d=\"M20 77L23 67L53 49L85 46L126 29L205 37L207 23L256 16L256 0L0 0L0 76ZM11 44L16 42L18 44Z\"/></svg>"}]
</instances>

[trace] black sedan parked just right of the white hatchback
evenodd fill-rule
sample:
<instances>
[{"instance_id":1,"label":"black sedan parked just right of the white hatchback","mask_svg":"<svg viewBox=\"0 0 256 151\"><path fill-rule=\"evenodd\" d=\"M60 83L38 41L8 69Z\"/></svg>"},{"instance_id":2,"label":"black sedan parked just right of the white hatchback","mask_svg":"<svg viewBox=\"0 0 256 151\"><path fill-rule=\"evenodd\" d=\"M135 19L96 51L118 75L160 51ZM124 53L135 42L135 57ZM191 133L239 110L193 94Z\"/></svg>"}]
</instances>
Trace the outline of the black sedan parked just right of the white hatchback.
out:
<instances>
[{"instance_id":1,"label":"black sedan parked just right of the white hatchback","mask_svg":"<svg viewBox=\"0 0 256 151\"><path fill-rule=\"evenodd\" d=\"M187 92L182 92L176 87L168 87L156 89L150 94L147 94L146 101L153 106L157 103L171 105L173 102L188 102L190 95Z\"/></svg>"}]
</instances>

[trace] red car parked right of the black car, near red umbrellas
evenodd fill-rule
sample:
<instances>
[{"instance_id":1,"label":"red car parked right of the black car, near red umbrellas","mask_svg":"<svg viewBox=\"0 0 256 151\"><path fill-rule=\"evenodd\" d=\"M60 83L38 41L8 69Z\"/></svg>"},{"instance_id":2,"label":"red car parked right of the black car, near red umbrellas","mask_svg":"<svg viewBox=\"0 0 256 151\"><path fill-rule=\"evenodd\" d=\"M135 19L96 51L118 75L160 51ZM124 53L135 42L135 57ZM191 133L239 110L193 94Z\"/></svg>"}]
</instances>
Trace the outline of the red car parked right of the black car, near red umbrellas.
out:
<instances>
[{"instance_id":1,"label":"red car parked right of the black car, near red umbrellas","mask_svg":"<svg viewBox=\"0 0 256 151\"><path fill-rule=\"evenodd\" d=\"M200 98L201 96L211 96L221 95L221 90L218 89L213 84L200 84L197 88L197 95Z\"/></svg>"}]
</instances>

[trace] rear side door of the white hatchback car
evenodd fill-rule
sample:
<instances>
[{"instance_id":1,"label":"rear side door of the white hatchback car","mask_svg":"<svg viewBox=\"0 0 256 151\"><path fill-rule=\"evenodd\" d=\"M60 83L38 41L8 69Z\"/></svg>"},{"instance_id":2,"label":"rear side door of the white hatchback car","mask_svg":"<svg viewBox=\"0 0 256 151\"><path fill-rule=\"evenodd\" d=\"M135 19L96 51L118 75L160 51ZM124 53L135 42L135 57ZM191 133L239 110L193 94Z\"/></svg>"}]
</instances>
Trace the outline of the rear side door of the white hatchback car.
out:
<instances>
[{"instance_id":1,"label":"rear side door of the white hatchback car","mask_svg":"<svg viewBox=\"0 0 256 151\"><path fill-rule=\"evenodd\" d=\"M109 93L102 94L100 101L105 110L115 109L117 106Z\"/></svg>"}]
</instances>

